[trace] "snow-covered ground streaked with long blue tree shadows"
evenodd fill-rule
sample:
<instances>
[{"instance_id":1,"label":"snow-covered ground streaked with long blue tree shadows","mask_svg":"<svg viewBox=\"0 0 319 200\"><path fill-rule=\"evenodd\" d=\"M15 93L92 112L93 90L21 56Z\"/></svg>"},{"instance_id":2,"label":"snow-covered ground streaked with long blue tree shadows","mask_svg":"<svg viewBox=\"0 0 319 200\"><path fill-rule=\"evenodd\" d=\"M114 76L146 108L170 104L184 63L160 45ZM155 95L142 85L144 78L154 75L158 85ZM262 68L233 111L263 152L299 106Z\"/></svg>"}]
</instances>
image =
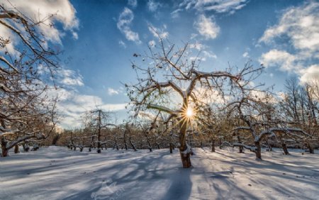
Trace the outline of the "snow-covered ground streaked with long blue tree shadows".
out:
<instances>
[{"instance_id":1,"label":"snow-covered ground streaked with long blue tree shadows","mask_svg":"<svg viewBox=\"0 0 319 200\"><path fill-rule=\"evenodd\" d=\"M0 199L318 199L318 154L195 152L191 169L177 150L11 153L0 157Z\"/></svg>"}]
</instances>

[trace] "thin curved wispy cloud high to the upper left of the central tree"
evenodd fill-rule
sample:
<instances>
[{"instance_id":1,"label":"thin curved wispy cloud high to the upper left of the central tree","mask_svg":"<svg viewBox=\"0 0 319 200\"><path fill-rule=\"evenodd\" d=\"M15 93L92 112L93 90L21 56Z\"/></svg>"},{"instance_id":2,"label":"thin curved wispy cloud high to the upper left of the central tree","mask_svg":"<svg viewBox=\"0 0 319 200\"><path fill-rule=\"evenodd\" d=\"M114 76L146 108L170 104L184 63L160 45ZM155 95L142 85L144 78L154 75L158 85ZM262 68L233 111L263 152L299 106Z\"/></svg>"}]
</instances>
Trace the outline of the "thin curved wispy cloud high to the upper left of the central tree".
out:
<instances>
[{"instance_id":1,"label":"thin curved wispy cloud high to the upper left of the central tree","mask_svg":"<svg viewBox=\"0 0 319 200\"><path fill-rule=\"evenodd\" d=\"M124 8L123 12L118 17L118 29L121 30L121 33L125 35L127 40L133 41L135 43L141 43L138 33L130 29L130 25L134 19L133 11L128 8Z\"/></svg>"}]
</instances>

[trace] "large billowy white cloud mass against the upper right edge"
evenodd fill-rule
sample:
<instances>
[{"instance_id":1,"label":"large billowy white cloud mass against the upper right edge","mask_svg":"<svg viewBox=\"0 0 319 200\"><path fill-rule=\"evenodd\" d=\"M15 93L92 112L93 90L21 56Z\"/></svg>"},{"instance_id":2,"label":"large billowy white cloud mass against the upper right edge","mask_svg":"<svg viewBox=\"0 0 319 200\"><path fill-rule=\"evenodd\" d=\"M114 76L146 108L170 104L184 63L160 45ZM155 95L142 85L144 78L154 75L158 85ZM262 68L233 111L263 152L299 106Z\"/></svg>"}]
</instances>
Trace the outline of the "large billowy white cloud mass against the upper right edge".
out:
<instances>
[{"instance_id":1,"label":"large billowy white cloud mass against the upper right edge","mask_svg":"<svg viewBox=\"0 0 319 200\"><path fill-rule=\"evenodd\" d=\"M319 58L318 9L318 2L307 1L284 10L279 22L259 38L259 44L275 45L277 49L262 54L259 62L296 73L302 82L310 78L319 80L318 65L311 64Z\"/></svg>"}]
</instances>

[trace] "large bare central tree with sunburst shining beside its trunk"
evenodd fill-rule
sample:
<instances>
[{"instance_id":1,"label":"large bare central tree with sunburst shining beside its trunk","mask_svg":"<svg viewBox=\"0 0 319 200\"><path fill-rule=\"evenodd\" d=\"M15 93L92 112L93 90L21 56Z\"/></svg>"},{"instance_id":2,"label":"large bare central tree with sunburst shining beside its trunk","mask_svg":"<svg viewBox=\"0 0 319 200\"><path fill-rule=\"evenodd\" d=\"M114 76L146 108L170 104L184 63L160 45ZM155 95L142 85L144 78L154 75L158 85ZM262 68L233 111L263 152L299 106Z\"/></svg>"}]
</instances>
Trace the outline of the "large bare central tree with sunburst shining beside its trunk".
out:
<instances>
[{"instance_id":1,"label":"large bare central tree with sunburst shining beside its trunk","mask_svg":"<svg viewBox=\"0 0 319 200\"><path fill-rule=\"evenodd\" d=\"M188 168L191 167L191 148L186 143L186 132L196 118L196 107L201 106L203 99L224 99L245 90L250 86L250 79L262 72L262 68L245 65L242 70L232 72L230 68L213 71L211 67L211 72L203 72L198 66L201 58L191 58L187 43L178 48L160 35L158 37L158 47L149 47L149 54L134 54L134 57L141 58L140 62L148 64L132 62L138 82L125 86L136 114L155 109L168 113L167 120L178 120L181 162L184 168ZM247 76L249 80L245 80Z\"/></svg>"}]
</instances>

